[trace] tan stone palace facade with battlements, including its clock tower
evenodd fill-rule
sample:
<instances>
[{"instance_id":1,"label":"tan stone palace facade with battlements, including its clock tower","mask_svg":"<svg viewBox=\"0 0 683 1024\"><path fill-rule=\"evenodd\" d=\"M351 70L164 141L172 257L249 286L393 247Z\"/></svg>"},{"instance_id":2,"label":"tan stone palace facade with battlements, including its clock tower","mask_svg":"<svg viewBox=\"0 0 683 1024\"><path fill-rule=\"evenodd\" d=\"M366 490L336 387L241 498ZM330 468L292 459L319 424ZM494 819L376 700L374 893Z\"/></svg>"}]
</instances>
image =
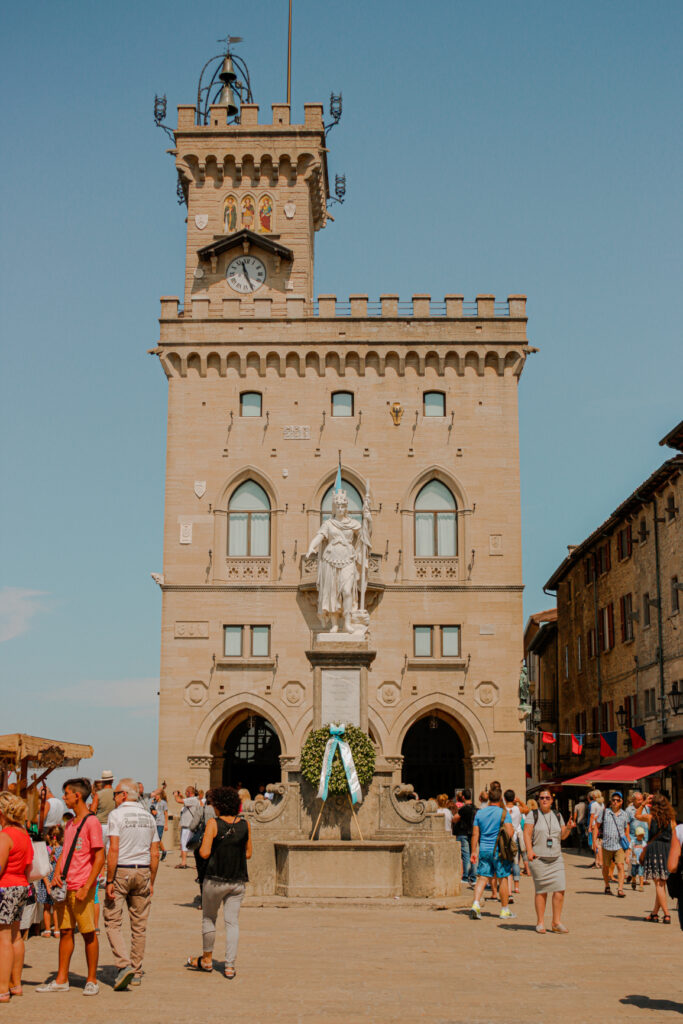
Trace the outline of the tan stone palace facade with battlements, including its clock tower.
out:
<instances>
[{"instance_id":1,"label":"tan stone palace facade with battlements, including its clock tower","mask_svg":"<svg viewBox=\"0 0 683 1024\"><path fill-rule=\"evenodd\" d=\"M243 106L240 125L226 124L221 108L212 108L210 122L199 127L194 108L179 108L184 304L162 299L152 350L169 389L157 578L160 779L171 788L238 781L226 743L236 728L264 721L279 761L276 777L262 781L299 785L299 753L314 714L306 651L318 629L314 567L303 554L341 459L346 486L361 494L367 479L372 486L368 598L376 656L364 678L378 778L389 788L401 781L407 735L429 719L453 736L460 784L478 790L498 777L521 791L517 388L528 351L525 298L499 304L489 295L475 303L416 295L405 305L393 295L379 303L328 295L313 302L314 233L328 219L322 106L306 104L303 125L291 125L282 104L267 125L254 105ZM257 237L258 224L245 233L238 222L232 242L226 197L240 207L245 195L257 204L267 195L271 230ZM249 294L226 280L243 254L257 257L265 274ZM351 415L334 415L340 391L352 395ZM248 399L260 403L260 415L243 415L245 392L260 396ZM238 524L230 506L247 481L269 506L260 526ZM446 532L455 523L454 537L443 541L435 520L436 550L422 535L416 547L416 501L430 481L454 503L452 519L439 520ZM253 538L267 530L269 540L259 534L250 550L240 530ZM433 628L427 655L416 650L421 626ZM444 633L449 626L459 635ZM241 637L230 633L239 651L225 647L225 627L242 627ZM378 814L381 801L393 807L392 799L378 791ZM289 790L288 814L292 800ZM302 798L304 816L308 803ZM290 838L305 827L297 818Z\"/></svg>"}]
</instances>

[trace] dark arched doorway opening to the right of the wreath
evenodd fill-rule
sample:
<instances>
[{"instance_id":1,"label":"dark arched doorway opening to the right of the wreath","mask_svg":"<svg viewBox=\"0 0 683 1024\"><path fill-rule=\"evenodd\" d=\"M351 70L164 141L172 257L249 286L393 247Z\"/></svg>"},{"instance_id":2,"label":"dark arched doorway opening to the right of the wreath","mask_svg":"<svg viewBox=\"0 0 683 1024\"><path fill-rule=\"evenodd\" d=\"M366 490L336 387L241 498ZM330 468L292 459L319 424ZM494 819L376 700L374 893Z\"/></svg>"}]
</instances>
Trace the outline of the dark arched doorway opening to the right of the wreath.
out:
<instances>
[{"instance_id":1,"label":"dark arched doorway opening to the right of the wreath","mask_svg":"<svg viewBox=\"0 0 683 1024\"><path fill-rule=\"evenodd\" d=\"M405 733L401 778L426 800L439 793L453 797L465 785L465 751L453 726L433 712L418 719Z\"/></svg>"}]
</instances>

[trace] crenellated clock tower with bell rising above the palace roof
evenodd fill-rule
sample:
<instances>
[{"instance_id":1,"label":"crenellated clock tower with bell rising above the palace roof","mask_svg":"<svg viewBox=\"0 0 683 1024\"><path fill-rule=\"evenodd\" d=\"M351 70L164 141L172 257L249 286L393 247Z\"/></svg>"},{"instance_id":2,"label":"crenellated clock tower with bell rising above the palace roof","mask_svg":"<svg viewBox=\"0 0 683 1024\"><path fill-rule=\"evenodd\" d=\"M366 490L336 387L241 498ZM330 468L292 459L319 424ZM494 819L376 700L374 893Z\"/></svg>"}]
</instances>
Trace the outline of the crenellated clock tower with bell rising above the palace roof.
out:
<instances>
[{"instance_id":1,"label":"crenellated clock tower with bell rising above the palace roof","mask_svg":"<svg viewBox=\"0 0 683 1024\"><path fill-rule=\"evenodd\" d=\"M323 104L305 103L304 123L293 125L289 104L273 103L263 124L244 86L238 109L236 78L228 52L214 75L217 101L202 106L200 84L200 103L178 106L171 152L187 204L185 307L278 314L287 299L313 296L314 234L328 219Z\"/></svg>"}]
</instances>

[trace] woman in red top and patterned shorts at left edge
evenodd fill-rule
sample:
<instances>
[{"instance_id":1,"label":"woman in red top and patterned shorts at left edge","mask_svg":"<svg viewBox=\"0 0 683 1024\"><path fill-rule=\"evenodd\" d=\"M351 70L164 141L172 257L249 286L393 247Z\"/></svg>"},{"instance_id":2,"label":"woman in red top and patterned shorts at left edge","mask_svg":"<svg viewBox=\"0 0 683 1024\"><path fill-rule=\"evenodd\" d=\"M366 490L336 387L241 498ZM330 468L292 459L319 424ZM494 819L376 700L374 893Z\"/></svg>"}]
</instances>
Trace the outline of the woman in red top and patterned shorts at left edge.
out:
<instances>
[{"instance_id":1,"label":"woman in red top and patterned shorts at left edge","mask_svg":"<svg viewBox=\"0 0 683 1024\"><path fill-rule=\"evenodd\" d=\"M26 830L27 805L0 793L0 1002L22 995L24 939L22 910L29 894L33 844Z\"/></svg>"}]
</instances>

